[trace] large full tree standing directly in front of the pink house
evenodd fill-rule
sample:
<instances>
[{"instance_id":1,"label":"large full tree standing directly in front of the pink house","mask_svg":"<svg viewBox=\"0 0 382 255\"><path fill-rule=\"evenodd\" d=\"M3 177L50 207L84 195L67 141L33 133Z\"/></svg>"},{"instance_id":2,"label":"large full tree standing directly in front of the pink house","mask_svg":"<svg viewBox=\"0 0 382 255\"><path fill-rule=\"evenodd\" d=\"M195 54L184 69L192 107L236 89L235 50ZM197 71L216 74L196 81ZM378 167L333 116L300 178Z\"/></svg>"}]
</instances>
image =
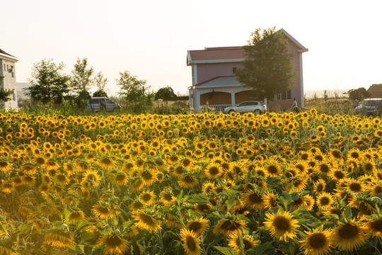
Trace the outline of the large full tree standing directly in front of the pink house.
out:
<instances>
[{"instance_id":1,"label":"large full tree standing directly in front of the pink house","mask_svg":"<svg viewBox=\"0 0 382 255\"><path fill-rule=\"evenodd\" d=\"M259 98L274 99L294 85L293 55L281 30L257 28L248 45L243 46L246 59L243 69L237 69L238 81L251 86Z\"/></svg>"}]
</instances>

